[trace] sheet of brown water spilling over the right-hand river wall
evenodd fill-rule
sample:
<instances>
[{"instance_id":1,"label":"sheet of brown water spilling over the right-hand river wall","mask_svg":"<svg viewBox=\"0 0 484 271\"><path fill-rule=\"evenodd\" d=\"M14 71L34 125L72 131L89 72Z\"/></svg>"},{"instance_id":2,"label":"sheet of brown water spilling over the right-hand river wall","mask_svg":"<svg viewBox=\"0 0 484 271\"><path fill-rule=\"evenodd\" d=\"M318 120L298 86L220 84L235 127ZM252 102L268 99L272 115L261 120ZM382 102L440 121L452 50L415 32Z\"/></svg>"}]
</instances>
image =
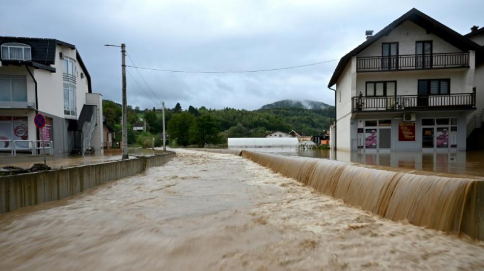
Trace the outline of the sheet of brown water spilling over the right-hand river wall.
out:
<instances>
[{"instance_id":1,"label":"sheet of brown water spilling over the right-hand river wall","mask_svg":"<svg viewBox=\"0 0 484 271\"><path fill-rule=\"evenodd\" d=\"M417 175L247 150L242 156L383 218L484 239L482 179Z\"/></svg>"}]
</instances>

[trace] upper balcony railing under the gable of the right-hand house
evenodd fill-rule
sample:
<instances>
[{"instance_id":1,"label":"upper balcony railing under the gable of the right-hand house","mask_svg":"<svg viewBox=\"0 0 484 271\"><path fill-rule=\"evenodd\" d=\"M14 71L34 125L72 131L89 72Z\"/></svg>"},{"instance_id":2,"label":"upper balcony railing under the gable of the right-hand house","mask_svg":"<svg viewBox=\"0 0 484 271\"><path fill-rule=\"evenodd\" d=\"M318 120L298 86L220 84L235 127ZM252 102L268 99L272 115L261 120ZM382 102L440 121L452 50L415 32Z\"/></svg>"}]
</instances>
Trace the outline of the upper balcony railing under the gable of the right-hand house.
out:
<instances>
[{"instance_id":1,"label":"upper balcony railing under the gable of the right-hand house","mask_svg":"<svg viewBox=\"0 0 484 271\"><path fill-rule=\"evenodd\" d=\"M358 57L356 69L357 72L374 72L468 67L469 53L436 53Z\"/></svg>"}]
</instances>

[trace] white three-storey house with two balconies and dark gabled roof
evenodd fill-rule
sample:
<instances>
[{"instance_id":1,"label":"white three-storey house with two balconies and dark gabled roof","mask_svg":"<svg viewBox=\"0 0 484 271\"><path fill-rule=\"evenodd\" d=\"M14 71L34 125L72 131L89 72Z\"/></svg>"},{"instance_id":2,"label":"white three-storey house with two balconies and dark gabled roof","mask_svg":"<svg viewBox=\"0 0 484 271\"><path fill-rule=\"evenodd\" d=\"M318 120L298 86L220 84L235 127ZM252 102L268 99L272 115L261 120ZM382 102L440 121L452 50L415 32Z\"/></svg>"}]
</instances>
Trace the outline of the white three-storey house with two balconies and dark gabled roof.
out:
<instances>
[{"instance_id":1,"label":"white three-storey house with two balconies and dark gabled roof","mask_svg":"<svg viewBox=\"0 0 484 271\"><path fill-rule=\"evenodd\" d=\"M483 57L479 45L416 9L367 33L328 84L335 91L333 147L466 150L466 118L476 110L475 69Z\"/></svg>"}]
</instances>

